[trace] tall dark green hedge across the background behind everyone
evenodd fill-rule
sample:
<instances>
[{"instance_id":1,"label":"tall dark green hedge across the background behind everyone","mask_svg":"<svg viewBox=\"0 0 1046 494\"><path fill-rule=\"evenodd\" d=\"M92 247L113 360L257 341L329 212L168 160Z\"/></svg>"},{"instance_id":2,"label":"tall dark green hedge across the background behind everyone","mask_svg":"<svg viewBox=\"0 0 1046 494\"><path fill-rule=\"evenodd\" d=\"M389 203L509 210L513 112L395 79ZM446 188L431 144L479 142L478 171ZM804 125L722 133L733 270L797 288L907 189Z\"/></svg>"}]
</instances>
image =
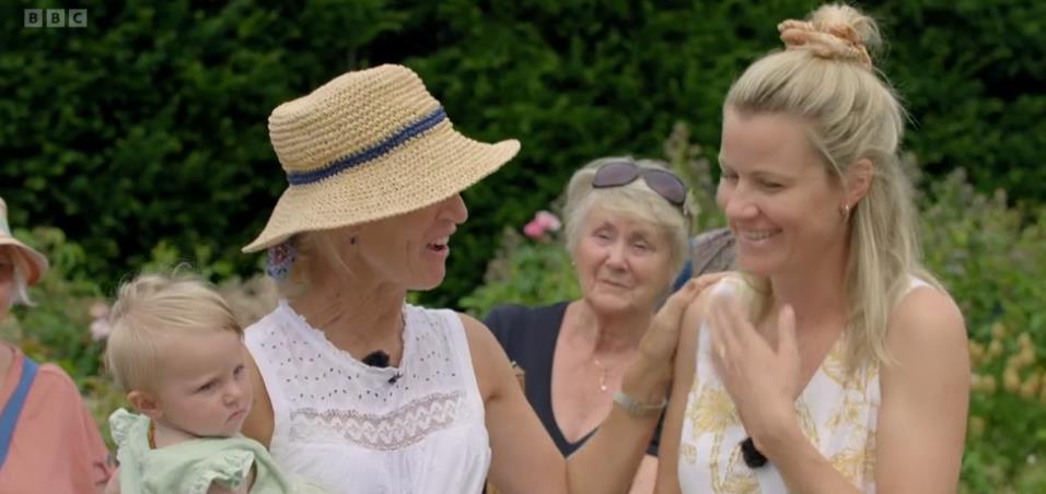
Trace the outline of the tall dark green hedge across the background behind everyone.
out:
<instances>
[{"instance_id":1,"label":"tall dark green hedge across the background behind everyone","mask_svg":"<svg viewBox=\"0 0 1046 494\"><path fill-rule=\"evenodd\" d=\"M466 193L451 274L426 302L480 282L502 225L522 225L602 155L661 155L677 119L719 140L733 78L778 46L775 25L816 2L448 0L200 2L89 8L83 30L0 16L0 195L14 224L55 225L112 282L164 240L205 246L220 277L284 183L268 146L278 103L382 62L418 70L455 125L523 152ZM34 8L67 7L57 1ZM926 169L968 166L990 192L1043 202L1046 3L869 2L892 42ZM714 149L708 150L712 156Z\"/></svg>"}]
</instances>

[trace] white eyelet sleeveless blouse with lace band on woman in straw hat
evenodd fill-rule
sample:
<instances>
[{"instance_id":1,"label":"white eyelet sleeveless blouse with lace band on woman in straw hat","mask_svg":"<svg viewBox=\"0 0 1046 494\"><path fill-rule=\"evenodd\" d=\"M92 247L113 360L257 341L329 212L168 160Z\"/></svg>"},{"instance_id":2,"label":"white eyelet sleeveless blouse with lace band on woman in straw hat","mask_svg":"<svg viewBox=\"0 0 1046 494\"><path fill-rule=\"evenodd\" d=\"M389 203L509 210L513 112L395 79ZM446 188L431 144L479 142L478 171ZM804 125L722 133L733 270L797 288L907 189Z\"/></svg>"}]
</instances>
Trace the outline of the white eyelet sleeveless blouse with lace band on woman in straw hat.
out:
<instances>
[{"instance_id":1,"label":"white eyelet sleeveless blouse with lace band on woman in straw hat","mask_svg":"<svg viewBox=\"0 0 1046 494\"><path fill-rule=\"evenodd\" d=\"M286 301L247 328L282 469L332 493L480 492L490 446L461 318L410 305L404 318L398 368L352 358Z\"/></svg>"}]
</instances>

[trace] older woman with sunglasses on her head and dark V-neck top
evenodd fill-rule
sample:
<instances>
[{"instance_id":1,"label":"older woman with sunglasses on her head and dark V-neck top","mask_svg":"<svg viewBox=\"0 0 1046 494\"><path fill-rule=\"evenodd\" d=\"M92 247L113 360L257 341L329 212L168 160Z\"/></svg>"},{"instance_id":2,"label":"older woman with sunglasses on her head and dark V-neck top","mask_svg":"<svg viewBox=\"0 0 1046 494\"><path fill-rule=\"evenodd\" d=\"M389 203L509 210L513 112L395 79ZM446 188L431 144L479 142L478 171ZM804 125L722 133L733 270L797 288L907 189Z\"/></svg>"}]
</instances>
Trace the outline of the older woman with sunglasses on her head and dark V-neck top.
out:
<instances>
[{"instance_id":1,"label":"older woman with sunglasses on her head and dark V-neck top","mask_svg":"<svg viewBox=\"0 0 1046 494\"><path fill-rule=\"evenodd\" d=\"M524 370L526 398L565 456L611 412L643 332L686 262L685 201L683 181L654 162L590 163L570 179L565 208L581 298L504 305L484 321ZM653 491L658 440L630 492Z\"/></svg>"}]
</instances>

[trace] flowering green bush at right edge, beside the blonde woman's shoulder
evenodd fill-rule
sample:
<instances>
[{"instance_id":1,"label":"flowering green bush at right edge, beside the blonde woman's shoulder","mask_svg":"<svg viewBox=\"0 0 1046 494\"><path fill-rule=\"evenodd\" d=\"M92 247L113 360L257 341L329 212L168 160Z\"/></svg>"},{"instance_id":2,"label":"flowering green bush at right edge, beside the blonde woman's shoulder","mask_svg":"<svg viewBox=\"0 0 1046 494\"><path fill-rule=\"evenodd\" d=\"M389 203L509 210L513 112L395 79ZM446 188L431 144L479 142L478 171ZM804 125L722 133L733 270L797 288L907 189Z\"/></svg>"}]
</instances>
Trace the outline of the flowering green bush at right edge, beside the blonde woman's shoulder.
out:
<instances>
[{"instance_id":1,"label":"flowering green bush at right edge, beside the blonde woman's shoulder","mask_svg":"<svg viewBox=\"0 0 1046 494\"><path fill-rule=\"evenodd\" d=\"M928 184L928 266L963 309L974 368L967 492L1042 492L1046 467L1046 208L1007 205L957 170ZM1034 489L1033 489L1034 487Z\"/></svg>"}]
</instances>

